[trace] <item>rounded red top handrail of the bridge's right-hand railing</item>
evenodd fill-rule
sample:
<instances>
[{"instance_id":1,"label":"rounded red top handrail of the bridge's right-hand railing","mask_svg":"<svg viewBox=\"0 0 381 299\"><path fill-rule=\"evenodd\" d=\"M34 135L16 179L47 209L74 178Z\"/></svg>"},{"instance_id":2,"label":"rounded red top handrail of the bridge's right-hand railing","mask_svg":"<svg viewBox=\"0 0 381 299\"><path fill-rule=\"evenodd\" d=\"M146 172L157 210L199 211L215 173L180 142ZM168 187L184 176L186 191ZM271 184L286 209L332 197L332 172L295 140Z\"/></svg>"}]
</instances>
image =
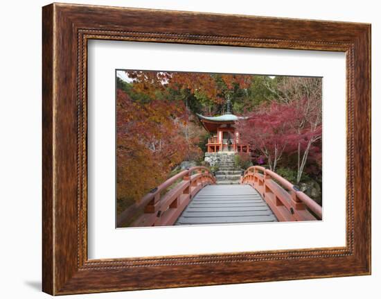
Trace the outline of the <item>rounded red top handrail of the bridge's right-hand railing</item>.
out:
<instances>
[{"instance_id":1,"label":"rounded red top handrail of the bridge's right-hand railing","mask_svg":"<svg viewBox=\"0 0 381 299\"><path fill-rule=\"evenodd\" d=\"M274 171L271 171L269 169L265 169L263 166L250 166L244 173L244 176L241 178L241 182L244 180L245 176L248 176L251 173L258 173L261 171L264 176L269 176L270 178L273 178L278 182L283 189L286 191L290 191L291 194L294 194L296 201L301 201L305 206L307 206L314 214L316 214L320 219L322 218L322 207L316 203L310 196L305 194L303 191L299 190L298 187L295 185L292 185L291 182L286 180L285 178L278 175L278 173L275 173Z\"/></svg>"}]
</instances>

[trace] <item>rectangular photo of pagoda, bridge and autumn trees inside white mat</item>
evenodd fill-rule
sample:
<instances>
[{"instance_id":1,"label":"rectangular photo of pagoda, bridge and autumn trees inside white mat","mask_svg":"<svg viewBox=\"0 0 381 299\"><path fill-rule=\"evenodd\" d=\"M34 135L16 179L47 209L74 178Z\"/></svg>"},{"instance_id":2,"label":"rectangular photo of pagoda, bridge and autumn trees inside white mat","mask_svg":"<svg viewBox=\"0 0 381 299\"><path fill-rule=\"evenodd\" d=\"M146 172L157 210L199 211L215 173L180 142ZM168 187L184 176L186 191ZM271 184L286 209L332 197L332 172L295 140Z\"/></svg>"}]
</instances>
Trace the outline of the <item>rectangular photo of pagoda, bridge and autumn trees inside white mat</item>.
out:
<instances>
[{"instance_id":1,"label":"rectangular photo of pagoda, bridge and autumn trees inside white mat","mask_svg":"<svg viewBox=\"0 0 381 299\"><path fill-rule=\"evenodd\" d=\"M116 228L322 220L322 78L116 69Z\"/></svg>"}]
</instances>

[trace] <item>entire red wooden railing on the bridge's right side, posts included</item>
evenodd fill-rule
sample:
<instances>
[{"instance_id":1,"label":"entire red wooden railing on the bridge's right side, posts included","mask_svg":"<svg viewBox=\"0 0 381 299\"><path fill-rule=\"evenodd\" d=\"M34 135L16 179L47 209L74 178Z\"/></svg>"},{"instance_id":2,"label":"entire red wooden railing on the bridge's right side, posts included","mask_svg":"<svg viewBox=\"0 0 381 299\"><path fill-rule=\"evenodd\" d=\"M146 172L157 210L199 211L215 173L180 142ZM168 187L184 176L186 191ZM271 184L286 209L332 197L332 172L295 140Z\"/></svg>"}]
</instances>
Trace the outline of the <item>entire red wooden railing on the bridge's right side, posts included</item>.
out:
<instances>
[{"instance_id":1,"label":"entire red wooden railing on the bridge's right side, posts included","mask_svg":"<svg viewBox=\"0 0 381 299\"><path fill-rule=\"evenodd\" d=\"M278 221L321 219L321 206L274 171L263 166L251 166L240 182L251 185L260 193Z\"/></svg>"}]
</instances>

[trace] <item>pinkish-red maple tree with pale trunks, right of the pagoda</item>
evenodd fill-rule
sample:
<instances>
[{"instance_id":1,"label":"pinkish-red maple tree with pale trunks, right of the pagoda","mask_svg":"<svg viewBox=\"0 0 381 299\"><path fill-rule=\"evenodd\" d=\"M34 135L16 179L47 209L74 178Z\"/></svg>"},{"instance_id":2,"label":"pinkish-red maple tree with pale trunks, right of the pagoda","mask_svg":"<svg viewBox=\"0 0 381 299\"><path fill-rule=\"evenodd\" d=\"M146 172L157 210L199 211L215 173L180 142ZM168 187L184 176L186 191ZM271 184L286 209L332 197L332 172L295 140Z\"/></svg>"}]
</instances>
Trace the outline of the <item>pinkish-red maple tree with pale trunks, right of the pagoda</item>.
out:
<instances>
[{"instance_id":1,"label":"pinkish-red maple tree with pale trunks, right of the pagoda","mask_svg":"<svg viewBox=\"0 0 381 299\"><path fill-rule=\"evenodd\" d=\"M267 88L274 100L238 123L242 142L263 153L273 171L282 155L296 155L299 183L308 159L321 160L321 78L286 77Z\"/></svg>"}]
</instances>

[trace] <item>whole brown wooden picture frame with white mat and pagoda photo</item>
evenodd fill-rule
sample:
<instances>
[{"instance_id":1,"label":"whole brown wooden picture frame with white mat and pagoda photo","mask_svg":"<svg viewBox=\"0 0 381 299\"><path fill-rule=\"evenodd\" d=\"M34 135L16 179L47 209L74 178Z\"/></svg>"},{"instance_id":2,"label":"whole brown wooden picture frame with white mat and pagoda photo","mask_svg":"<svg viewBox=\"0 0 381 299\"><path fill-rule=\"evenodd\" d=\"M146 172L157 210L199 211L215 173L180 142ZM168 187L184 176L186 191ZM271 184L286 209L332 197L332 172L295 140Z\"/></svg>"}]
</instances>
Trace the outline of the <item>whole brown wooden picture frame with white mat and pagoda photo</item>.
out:
<instances>
[{"instance_id":1,"label":"whole brown wooden picture frame with white mat and pagoda photo","mask_svg":"<svg viewBox=\"0 0 381 299\"><path fill-rule=\"evenodd\" d=\"M43 291L371 273L371 26L43 8Z\"/></svg>"}]
</instances>

